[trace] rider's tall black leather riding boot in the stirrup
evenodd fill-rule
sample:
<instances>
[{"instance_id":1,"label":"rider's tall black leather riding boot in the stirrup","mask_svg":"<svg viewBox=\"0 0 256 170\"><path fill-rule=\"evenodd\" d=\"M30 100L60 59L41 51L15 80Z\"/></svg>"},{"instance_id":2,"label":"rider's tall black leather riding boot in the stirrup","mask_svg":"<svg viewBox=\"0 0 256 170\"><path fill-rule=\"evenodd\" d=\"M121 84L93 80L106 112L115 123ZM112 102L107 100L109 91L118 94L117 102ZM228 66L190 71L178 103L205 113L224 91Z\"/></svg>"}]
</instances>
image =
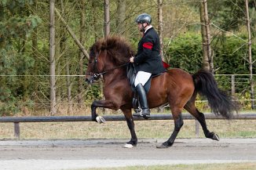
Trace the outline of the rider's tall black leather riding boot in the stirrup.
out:
<instances>
[{"instance_id":1,"label":"rider's tall black leather riding boot in the stirrup","mask_svg":"<svg viewBox=\"0 0 256 170\"><path fill-rule=\"evenodd\" d=\"M147 100L147 96L146 96L146 92L144 90L144 87L140 83L136 86L135 89L136 89L137 94L139 96L139 101L140 101L140 104L141 104L141 112L135 113L135 114L133 114L133 116L149 118L150 117L150 110L148 108L148 100Z\"/></svg>"}]
</instances>

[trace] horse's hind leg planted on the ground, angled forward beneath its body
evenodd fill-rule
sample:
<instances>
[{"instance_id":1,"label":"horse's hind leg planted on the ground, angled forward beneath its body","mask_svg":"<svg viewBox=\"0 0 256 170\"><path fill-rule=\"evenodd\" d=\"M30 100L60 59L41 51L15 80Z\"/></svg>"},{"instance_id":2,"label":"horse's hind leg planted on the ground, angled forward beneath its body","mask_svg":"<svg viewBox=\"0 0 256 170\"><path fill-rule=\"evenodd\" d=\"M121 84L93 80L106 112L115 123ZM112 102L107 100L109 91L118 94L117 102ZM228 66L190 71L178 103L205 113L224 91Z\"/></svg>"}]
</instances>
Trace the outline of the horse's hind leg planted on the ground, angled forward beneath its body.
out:
<instances>
[{"instance_id":1,"label":"horse's hind leg planted on the ground, angled forward beneath its body","mask_svg":"<svg viewBox=\"0 0 256 170\"><path fill-rule=\"evenodd\" d=\"M183 125L183 118L180 113L180 114L178 114L177 118L174 117L174 132L171 134L170 138L166 142L164 142L161 145L156 146L156 147L157 148L167 148L169 146L172 146L174 144L174 140L176 139L178 132L180 132L180 130L181 130L182 125Z\"/></svg>"}]
</instances>

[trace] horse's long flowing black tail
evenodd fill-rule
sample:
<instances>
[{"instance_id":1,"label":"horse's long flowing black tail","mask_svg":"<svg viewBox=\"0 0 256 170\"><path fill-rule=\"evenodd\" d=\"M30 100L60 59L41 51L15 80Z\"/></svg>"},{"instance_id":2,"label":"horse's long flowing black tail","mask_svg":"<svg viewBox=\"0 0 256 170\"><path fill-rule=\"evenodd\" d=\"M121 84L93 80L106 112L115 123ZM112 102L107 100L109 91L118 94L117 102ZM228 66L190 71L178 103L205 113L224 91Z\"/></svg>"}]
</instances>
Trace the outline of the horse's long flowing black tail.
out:
<instances>
[{"instance_id":1,"label":"horse's long flowing black tail","mask_svg":"<svg viewBox=\"0 0 256 170\"><path fill-rule=\"evenodd\" d=\"M225 118L232 118L234 111L238 113L239 104L232 99L232 96L218 89L217 82L210 71L200 70L192 77L196 91L207 97L210 109L215 115L221 114Z\"/></svg>"}]
</instances>

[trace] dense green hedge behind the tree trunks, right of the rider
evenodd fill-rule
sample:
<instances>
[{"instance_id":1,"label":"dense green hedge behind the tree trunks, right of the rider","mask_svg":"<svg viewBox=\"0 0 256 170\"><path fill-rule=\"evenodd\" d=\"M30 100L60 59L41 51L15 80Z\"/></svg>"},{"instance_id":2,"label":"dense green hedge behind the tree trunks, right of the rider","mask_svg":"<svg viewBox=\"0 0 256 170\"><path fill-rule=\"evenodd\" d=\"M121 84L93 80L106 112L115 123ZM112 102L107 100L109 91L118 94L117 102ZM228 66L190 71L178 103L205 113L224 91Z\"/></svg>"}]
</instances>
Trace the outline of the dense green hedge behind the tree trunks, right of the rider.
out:
<instances>
[{"instance_id":1,"label":"dense green hedge behind the tree trunks, right of the rider","mask_svg":"<svg viewBox=\"0 0 256 170\"><path fill-rule=\"evenodd\" d=\"M245 36L240 35L243 39ZM219 36L214 38L215 74L250 74L247 62L246 42L236 37ZM171 67L181 68L189 73L196 73L202 67L203 50L201 34L187 33L175 38L166 49L166 61ZM256 45L252 44L252 61L256 60ZM253 74L256 67L253 67ZM231 78L227 76L217 78L221 89L230 89ZM236 92L248 89L248 76L240 78L241 83L236 85ZM243 82L242 82L243 81Z\"/></svg>"}]
</instances>

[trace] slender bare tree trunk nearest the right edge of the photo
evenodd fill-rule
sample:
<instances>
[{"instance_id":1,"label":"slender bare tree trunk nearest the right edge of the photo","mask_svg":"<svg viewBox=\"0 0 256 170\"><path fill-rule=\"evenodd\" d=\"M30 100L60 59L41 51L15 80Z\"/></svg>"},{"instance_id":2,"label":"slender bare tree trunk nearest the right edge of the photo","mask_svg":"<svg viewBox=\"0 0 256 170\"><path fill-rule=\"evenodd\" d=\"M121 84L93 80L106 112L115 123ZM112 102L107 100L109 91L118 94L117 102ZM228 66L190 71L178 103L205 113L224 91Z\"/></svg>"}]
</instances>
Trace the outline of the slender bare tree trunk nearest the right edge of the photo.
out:
<instances>
[{"instance_id":1,"label":"slender bare tree trunk nearest the right edge of the photo","mask_svg":"<svg viewBox=\"0 0 256 170\"><path fill-rule=\"evenodd\" d=\"M248 32L248 58L249 58L249 71L250 71L250 85L251 85L251 108L254 109L254 80L253 80L253 61L251 58L251 24L250 24L250 16L248 9L248 0L245 0L246 9L247 9L247 32Z\"/></svg>"}]
</instances>

